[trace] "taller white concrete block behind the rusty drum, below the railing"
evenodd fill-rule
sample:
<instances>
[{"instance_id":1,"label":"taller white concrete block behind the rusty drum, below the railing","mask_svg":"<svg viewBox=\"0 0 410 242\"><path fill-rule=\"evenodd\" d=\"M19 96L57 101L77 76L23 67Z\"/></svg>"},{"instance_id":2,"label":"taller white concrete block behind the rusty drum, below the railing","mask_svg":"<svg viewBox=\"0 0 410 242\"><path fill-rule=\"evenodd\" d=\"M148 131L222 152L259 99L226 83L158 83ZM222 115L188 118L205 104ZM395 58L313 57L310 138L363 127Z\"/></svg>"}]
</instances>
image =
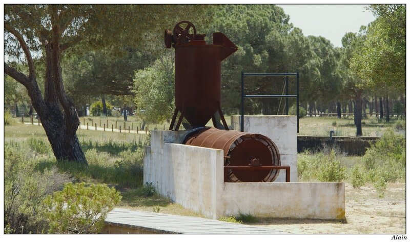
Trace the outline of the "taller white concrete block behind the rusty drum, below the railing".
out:
<instances>
[{"instance_id":1,"label":"taller white concrete block behind the rusty drum, below the railing","mask_svg":"<svg viewBox=\"0 0 410 242\"><path fill-rule=\"evenodd\" d=\"M291 181L298 181L297 117L296 116L243 116L243 131L258 133L272 139L279 149L282 166L291 167ZM240 116L231 116L233 130L240 130ZM275 181L285 181L285 170Z\"/></svg>"}]
</instances>

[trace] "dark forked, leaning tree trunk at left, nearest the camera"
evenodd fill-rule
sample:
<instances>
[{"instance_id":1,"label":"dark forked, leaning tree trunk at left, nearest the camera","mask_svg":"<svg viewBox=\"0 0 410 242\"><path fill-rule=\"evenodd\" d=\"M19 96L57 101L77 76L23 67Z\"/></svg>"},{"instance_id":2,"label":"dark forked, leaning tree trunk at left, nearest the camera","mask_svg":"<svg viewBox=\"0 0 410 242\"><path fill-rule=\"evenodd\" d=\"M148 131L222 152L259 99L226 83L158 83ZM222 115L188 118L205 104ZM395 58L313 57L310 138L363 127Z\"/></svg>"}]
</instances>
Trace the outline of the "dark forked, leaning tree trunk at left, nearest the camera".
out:
<instances>
[{"instance_id":1,"label":"dark forked, leaning tree trunk at left, nearest the camera","mask_svg":"<svg viewBox=\"0 0 410 242\"><path fill-rule=\"evenodd\" d=\"M57 8L56 6L52 8L53 17L55 17ZM29 67L29 75L17 71L6 63L4 64L5 73L26 87L33 108L42 120L55 157L57 160L73 160L80 164L87 164L76 135L79 125L77 112L74 103L65 93L61 77L60 58L65 48L60 47L59 43L63 32L60 26L53 25L50 35L45 35L40 39L45 48L46 59L44 98L36 82L34 62L23 35L9 25L5 25L5 28L18 39L22 46ZM63 109L61 110L60 107Z\"/></svg>"}]
</instances>

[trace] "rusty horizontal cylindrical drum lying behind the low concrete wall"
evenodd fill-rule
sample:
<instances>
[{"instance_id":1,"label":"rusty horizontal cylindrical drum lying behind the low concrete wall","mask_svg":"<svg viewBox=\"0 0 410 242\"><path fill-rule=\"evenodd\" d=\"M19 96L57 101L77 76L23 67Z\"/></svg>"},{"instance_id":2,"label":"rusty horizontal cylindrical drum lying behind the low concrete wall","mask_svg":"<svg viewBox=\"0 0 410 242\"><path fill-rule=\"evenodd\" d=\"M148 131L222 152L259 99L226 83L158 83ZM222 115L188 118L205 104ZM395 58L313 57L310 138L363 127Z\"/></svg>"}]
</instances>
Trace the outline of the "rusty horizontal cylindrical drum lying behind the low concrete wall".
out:
<instances>
[{"instance_id":1,"label":"rusty horizontal cylindrical drum lying behind the low concrete wall","mask_svg":"<svg viewBox=\"0 0 410 242\"><path fill-rule=\"evenodd\" d=\"M264 135L206 127L188 134L186 145L223 150L224 166L280 166L280 154ZM228 170L228 182L274 181L279 170Z\"/></svg>"}]
</instances>

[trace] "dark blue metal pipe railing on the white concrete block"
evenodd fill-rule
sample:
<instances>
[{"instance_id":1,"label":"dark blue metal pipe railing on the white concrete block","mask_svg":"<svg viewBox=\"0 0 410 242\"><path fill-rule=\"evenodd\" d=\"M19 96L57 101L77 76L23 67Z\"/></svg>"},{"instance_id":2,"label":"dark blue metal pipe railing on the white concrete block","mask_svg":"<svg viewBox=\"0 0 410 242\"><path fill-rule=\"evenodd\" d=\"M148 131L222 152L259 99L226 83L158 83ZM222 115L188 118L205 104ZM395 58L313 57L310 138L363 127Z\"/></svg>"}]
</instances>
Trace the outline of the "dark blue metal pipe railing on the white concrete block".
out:
<instances>
[{"instance_id":1,"label":"dark blue metal pipe railing on the white concrete block","mask_svg":"<svg viewBox=\"0 0 410 242\"><path fill-rule=\"evenodd\" d=\"M285 95L245 95L244 76L283 76L285 77ZM296 95L288 94L289 76L296 76ZM296 116L297 116L297 132L299 133L299 71L296 73L243 73L241 72L241 114L240 114L240 131L243 132L243 116L244 116L244 98L286 98L286 115L289 114L288 98L296 97ZM280 107L279 107L280 108Z\"/></svg>"}]
</instances>

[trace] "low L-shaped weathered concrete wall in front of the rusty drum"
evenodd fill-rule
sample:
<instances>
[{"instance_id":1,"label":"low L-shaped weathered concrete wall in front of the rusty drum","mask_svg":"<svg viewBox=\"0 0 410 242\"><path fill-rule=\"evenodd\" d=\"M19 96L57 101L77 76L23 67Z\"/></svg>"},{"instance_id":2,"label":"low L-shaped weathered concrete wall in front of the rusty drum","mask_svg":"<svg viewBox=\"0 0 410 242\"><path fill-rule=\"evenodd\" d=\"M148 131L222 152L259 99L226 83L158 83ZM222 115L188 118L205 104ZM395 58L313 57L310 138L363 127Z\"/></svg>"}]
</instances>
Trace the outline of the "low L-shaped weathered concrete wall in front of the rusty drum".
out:
<instances>
[{"instance_id":1,"label":"low L-shaped weathered concrete wall in front of the rusty drum","mask_svg":"<svg viewBox=\"0 0 410 242\"><path fill-rule=\"evenodd\" d=\"M151 131L144 183L185 208L213 219L239 213L345 219L344 183L224 183L222 150L163 143L178 136L170 132Z\"/></svg>"}]
</instances>

